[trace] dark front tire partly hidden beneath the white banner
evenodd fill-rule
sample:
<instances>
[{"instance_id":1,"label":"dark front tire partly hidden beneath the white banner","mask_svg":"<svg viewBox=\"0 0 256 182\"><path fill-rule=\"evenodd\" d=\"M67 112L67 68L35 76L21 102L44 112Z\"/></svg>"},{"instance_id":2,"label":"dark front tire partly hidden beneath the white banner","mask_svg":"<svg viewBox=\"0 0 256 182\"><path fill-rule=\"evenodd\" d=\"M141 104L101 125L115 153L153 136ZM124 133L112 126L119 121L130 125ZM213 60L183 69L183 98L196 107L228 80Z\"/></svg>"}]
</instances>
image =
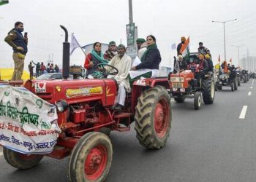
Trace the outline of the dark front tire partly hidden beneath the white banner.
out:
<instances>
[{"instance_id":1,"label":"dark front tire partly hidden beneath the white banner","mask_svg":"<svg viewBox=\"0 0 256 182\"><path fill-rule=\"evenodd\" d=\"M43 155L36 154L21 154L17 151L12 151L4 147L3 149L4 159L15 168L20 170L27 170L31 167L36 166L41 160Z\"/></svg>"}]
</instances>

